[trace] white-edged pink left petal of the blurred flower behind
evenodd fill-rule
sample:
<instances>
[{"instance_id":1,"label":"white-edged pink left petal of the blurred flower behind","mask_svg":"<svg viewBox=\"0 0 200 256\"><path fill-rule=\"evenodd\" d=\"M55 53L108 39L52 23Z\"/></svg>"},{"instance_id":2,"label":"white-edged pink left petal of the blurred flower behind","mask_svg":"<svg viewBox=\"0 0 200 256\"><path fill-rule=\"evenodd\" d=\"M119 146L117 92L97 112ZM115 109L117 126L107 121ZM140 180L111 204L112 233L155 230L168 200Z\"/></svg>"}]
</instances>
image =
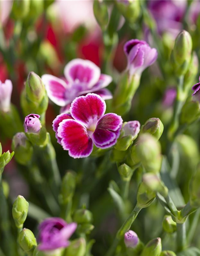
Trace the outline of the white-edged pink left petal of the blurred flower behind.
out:
<instances>
[{"instance_id":1,"label":"white-edged pink left petal of the blurred flower behind","mask_svg":"<svg viewBox=\"0 0 200 256\"><path fill-rule=\"evenodd\" d=\"M46 74L42 76L42 81L46 87L48 97L52 102L58 106L65 106L68 104L66 90L69 88L69 85L64 80Z\"/></svg>"}]
</instances>

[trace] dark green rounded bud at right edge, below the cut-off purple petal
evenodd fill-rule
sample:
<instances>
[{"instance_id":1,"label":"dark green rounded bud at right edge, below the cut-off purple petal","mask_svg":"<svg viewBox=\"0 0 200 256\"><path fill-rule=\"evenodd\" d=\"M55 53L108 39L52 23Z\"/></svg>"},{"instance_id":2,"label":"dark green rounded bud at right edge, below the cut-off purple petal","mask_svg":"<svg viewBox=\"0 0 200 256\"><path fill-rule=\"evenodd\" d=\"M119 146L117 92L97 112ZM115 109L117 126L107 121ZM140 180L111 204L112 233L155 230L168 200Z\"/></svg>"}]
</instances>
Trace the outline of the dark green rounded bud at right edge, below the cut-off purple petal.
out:
<instances>
[{"instance_id":1,"label":"dark green rounded bud at right edge, below the cut-off purple petal","mask_svg":"<svg viewBox=\"0 0 200 256\"><path fill-rule=\"evenodd\" d=\"M200 104L198 101L186 102L181 110L180 122L191 124L200 117Z\"/></svg>"}]
</instances>

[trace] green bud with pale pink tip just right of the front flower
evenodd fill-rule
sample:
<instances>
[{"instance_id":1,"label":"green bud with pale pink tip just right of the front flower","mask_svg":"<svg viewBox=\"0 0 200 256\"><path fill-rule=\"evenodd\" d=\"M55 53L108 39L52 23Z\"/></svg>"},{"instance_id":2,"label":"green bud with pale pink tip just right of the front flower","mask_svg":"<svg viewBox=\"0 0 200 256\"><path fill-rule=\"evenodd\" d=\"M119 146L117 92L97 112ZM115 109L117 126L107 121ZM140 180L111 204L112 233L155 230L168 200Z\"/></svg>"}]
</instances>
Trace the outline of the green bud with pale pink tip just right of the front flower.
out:
<instances>
[{"instance_id":1,"label":"green bud with pale pink tip just right of the front flower","mask_svg":"<svg viewBox=\"0 0 200 256\"><path fill-rule=\"evenodd\" d=\"M138 121L125 122L123 124L120 138L118 138L115 148L125 151L129 148L132 142L137 138L140 132L140 123Z\"/></svg>"}]
</instances>

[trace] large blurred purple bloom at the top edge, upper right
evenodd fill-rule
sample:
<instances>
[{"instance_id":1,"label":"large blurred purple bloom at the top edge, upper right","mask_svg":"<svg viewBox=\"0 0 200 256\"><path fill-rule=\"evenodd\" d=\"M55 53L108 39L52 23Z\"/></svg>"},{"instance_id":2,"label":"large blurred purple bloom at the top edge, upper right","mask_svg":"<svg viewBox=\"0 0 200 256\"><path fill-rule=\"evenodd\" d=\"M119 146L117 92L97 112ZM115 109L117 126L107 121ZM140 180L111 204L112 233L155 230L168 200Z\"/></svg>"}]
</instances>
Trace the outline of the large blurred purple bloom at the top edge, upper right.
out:
<instances>
[{"instance_id":1,"label":"large blurred purple bloom at the top edge, upper right","mask_svg":"<svg viewBox=\"0 0 200 256\"><path fill-rule=\"evenodd\" d=\"M154 16L158 32L170 32L174 36L182 29L187 0L149 0L148 8Z\"/></svg>"}]
</instances>

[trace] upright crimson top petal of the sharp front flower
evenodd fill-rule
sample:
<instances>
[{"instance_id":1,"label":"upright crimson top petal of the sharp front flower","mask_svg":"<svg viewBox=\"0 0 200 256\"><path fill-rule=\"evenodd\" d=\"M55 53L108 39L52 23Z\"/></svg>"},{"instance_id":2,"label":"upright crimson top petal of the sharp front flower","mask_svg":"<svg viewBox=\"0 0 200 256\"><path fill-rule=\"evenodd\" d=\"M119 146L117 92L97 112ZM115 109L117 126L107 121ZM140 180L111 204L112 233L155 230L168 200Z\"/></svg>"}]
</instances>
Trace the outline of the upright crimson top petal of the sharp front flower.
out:
<instances>
[{"instance_id":1,"label":"upright crimson top petal of the sharp front flower","mask_svg":"<svg viewBox=\"0 0 200 256\"><path fill-rule=\"evenodd\" d=\"M88 93L86 96L76 98L70 108L72 117L93 131L105 111L106 103L94 93Z\"/></svg>"}]
</instances>

